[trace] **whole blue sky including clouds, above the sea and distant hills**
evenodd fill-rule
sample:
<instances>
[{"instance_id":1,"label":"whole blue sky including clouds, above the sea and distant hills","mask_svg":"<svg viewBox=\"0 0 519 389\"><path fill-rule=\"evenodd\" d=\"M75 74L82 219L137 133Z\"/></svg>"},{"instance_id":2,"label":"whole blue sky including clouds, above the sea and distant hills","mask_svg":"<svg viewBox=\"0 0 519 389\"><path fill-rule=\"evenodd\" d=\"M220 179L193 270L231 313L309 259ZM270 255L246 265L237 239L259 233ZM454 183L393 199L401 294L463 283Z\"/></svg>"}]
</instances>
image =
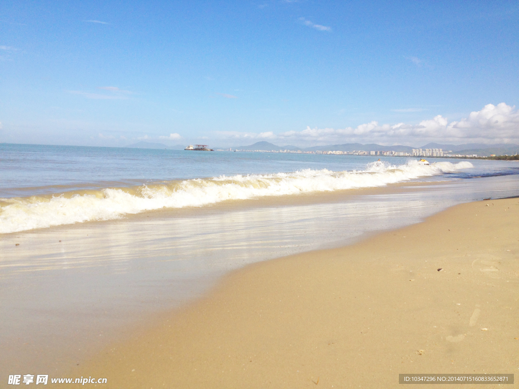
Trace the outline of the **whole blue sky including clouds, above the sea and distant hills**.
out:
<instances>
[{"instance_id":1,"label":"whole blue sky including clouds, above the sea and distant hills","mask_svg":"<svg viewBox=\"0 0 519 389\"><path fill-rule=\"evenodd\" d=\"M0 142L519 143L516 1L0 2Z\"/></svg>"}]
</instances>

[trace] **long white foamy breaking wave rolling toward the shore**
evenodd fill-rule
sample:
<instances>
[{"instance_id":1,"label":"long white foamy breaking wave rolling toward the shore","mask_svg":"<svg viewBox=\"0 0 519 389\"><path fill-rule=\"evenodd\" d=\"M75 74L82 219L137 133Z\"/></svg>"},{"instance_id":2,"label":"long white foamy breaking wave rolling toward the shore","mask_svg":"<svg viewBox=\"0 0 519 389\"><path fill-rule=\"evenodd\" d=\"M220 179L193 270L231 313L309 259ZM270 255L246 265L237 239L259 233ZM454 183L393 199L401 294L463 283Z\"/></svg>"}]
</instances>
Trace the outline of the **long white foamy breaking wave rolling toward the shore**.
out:
<instances>
[{"instance_id":1,"label":"long white foamy breaking wave rolling toward the shore","mask_svg":"<svg viewBox=\"0 0 519 389\"><path fill-rule=\"evenodd\" d=\"M362 171L302 170L189 179L135 188L106 188L88 193L64 193L51 198L1 199L0 233L47 228L90 220L117 219L161 208L203 206L227 200L378 187L423 176L472 168L470 162L436 162L429 166L373 162Z\"/></svg>"}]
</instances>

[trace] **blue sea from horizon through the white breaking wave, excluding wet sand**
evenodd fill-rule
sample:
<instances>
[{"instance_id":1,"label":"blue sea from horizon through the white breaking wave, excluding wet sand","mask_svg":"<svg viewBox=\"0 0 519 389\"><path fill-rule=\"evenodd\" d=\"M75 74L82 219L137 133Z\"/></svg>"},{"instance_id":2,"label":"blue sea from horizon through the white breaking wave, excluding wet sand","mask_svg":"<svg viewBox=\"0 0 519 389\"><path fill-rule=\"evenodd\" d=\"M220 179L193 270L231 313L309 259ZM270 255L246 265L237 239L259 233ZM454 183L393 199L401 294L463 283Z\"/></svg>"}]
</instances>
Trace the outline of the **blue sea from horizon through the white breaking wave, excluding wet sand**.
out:
<instances>
[{"instance_id":1,"label":"blue sea from horizon through the white breaking wave, excluding wet sand","mask_svg":"<svg viewBox=\"0 0 519 389\"><path fill-rule=\"evenodd\" d=\"M517 174L502 161L0 145L0 233L232 200Z\"/></svg>"}]
</instances>

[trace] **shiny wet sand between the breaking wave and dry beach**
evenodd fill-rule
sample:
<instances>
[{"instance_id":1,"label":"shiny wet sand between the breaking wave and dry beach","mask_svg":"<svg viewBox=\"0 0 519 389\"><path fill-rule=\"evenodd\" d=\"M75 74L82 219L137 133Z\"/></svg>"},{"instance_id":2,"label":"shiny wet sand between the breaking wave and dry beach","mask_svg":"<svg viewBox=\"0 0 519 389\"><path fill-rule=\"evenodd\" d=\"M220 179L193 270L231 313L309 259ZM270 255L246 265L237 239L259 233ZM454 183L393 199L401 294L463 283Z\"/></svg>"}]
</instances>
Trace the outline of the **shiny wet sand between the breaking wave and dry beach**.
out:
<instances>
[{"instance_id":1,"label":"shiny wet sand between the breaking wave and dry beach","mask_svg":"<svg viewBox=\"0 0 519 389\"><path fill-rule=\"evenodd\" d=\"M0 376L61 376L249 263L342 247L519 190L515 176L409 184L2 235Z\"/></svg>"}]
</instances>

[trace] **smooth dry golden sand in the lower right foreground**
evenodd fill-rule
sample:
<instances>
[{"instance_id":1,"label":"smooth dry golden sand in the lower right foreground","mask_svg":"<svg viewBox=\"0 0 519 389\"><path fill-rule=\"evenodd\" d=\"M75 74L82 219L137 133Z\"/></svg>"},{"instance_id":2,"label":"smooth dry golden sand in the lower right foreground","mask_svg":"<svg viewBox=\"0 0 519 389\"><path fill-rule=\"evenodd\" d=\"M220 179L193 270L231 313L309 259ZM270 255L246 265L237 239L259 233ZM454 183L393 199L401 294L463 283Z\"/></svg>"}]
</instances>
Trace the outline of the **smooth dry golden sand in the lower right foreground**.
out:
<instances>
[{"instance_id":1,"label":"smooth dry golden sand in the lower right foreground","mask_svg":"<svg viewBox=\"0 0 519 389\"><path fill-rule=\"evenodd\" d=\"M68 377L140 389L519 379L518 224L519 199L461 204L353 246L247 266Z\"/></svg>"}]
</instances>

